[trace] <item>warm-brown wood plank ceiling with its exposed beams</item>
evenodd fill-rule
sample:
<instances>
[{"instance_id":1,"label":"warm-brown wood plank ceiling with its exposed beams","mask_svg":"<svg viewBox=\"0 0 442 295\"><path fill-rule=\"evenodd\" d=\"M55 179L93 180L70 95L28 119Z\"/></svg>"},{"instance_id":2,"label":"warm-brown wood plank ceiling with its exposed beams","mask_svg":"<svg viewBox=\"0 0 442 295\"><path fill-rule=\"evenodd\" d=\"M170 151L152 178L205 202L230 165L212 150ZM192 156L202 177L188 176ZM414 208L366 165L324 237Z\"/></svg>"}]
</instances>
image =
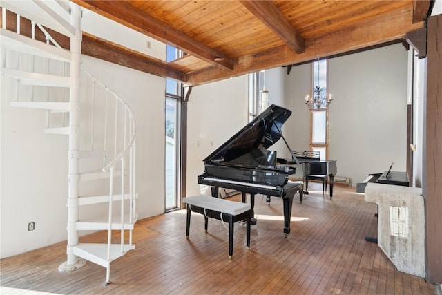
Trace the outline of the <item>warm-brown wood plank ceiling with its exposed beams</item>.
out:
<instances>
[{"instance_id":1,"label":"warm-brown wood plank ceiling with its exposed beams","mask_svg":"<svg viewBox=\"0 0 442 295\"><path fill-rule=\"evenodd\" d=\"M189 86L403 41L407 32L425 27L431 3L71 1L186 53L166 63L86 34L84 54Z\"/></svg>"}]
</instances>

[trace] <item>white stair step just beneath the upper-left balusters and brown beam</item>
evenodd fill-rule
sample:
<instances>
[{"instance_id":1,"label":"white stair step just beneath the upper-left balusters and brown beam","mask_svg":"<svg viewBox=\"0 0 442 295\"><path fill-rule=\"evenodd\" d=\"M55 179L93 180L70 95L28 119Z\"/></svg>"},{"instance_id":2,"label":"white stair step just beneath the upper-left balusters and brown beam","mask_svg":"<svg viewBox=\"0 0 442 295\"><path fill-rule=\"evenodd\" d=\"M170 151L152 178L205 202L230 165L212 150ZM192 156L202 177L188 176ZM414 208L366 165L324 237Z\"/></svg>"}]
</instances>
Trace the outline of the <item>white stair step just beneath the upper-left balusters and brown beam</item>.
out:
<instances>
[{"instance_id":1,"label":"white stair step just beneath the upper-left balusters and brown beam","mask_svg":"<svg viewBox=\"0 0 442 295\"><path fill-rule=\"evenodd\" d=\"M59 61L70 61L69 50L57 48L44 42L11 32L4 28L0 29L0 44L1 48L15 50L19 53L27 53L30 55L46 57Z\"/></svg>"}]
</instances>

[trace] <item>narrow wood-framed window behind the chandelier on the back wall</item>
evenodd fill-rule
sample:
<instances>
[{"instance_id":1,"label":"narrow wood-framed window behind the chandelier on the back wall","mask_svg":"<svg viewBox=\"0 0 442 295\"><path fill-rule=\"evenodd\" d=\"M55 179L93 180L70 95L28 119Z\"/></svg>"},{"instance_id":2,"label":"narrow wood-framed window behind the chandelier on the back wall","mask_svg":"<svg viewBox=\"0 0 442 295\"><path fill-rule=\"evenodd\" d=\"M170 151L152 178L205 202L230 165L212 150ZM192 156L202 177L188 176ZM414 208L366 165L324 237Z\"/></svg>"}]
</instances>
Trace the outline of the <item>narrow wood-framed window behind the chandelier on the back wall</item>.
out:
<instances>
[{"instance_id":1,"label":"narrow wood-framed window behind the chandelier on the back wall","mask_svg":"<svg viewBox=\"0 0 442 295\"><path fill-rule=\"evenodd\" d=\"M311 65L312 90L311 94L327 97L327 59L314 61ZM312 106L310 149L319 151L321 160L328 158L328 104Z\"/></svg>"}]
</instances>

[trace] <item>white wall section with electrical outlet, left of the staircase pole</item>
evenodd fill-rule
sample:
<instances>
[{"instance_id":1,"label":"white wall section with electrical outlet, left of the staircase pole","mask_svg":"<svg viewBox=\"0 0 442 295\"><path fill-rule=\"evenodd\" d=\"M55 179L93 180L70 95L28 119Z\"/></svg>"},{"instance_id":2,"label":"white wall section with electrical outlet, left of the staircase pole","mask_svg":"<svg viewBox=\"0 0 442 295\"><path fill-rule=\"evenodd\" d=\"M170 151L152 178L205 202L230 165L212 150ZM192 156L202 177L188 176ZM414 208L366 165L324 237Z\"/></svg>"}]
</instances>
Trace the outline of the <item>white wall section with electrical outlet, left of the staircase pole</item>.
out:
<instances>
[{"instance_id":1,"label":"white wall section with electrical outlet, left of the staircase pole","mask_svg":"<svg viewBox=\"0 0 442 295\"><path fill-rule=\"evenodd\" d=\"M15 82L5 76L0 79L0 257L4 258L66 240L68 140L43 133L45 111L12 108ZM28 231L29 222L36 222L35 231Z\"/></svg>"}]
</instances>

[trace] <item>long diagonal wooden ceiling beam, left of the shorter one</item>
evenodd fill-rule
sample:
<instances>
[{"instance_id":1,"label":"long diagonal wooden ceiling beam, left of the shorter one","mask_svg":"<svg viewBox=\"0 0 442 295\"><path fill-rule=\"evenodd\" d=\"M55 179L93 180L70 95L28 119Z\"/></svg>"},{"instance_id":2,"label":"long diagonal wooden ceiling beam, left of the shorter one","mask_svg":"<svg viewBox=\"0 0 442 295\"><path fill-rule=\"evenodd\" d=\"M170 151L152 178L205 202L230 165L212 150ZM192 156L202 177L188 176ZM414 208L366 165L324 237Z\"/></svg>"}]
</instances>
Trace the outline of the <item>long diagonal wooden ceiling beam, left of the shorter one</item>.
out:
<instances>
[{"instance_id":1,"label":"long diagonal wooden ceiling beam, left of the shorter one","mask_svg":"<svg viewBox=\"0 0 442 295\"><path fill-rule=\"evenodd\" d=\"M97 12L99 15L117 21L133 30L137 30L144 35L180 48L180 50L203 59L213 66L217 66L223 70L233 70L233 59L227 57L224 53L214 50L188 35L183 34L172 26L151 17L151 15L137 10L137 8L129 5L126 1L72 1L84 8Z\"/></svg>"}]
</instances>

